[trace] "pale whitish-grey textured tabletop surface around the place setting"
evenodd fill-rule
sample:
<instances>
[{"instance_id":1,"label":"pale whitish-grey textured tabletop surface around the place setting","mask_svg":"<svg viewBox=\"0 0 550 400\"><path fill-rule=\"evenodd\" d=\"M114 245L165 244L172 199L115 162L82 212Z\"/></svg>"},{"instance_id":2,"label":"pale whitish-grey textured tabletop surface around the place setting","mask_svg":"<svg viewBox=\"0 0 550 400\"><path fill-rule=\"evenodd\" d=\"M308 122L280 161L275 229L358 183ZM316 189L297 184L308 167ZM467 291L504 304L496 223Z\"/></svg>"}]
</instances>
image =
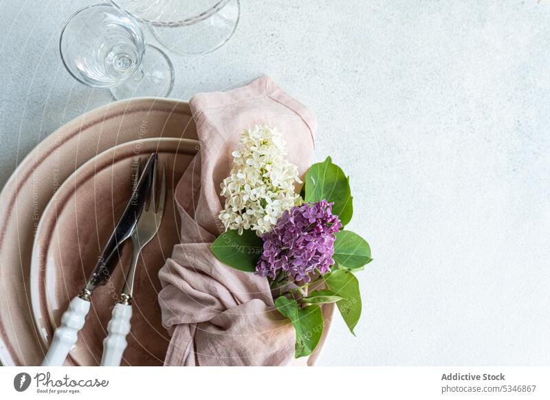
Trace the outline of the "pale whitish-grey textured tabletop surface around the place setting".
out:
<instances>
[{"instance_id":1,"label":"pale whitish-grey textured tabletop surface around the place setting","mask_svg":"<svg viewBox=\"0 0 550 400\"><path fill-rule=\"evenodd\" d=\"M88 0L89 1L89 0ZM87 1L0 0L0 184L111 101L61 65ZM272 78L351 175L375 261L319 364L550 363L550 1L242 1L232 40L172 56L173 97Z\"/></svg>"}]
</instances>

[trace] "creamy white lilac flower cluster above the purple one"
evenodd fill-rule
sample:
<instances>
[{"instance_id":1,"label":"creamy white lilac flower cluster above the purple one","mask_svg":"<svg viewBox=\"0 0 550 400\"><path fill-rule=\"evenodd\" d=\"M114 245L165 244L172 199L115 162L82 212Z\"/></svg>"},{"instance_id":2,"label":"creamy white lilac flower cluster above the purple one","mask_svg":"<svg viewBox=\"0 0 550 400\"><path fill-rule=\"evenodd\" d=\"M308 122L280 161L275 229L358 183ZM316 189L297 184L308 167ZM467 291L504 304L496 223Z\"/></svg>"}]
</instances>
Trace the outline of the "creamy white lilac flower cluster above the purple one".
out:
<instances>
[{"instance_id":1,"label":"creamy white lilac flower cluster above the purple one","mask_svg":"<svg viewBox=\"0 0 550 400\"><path fill-rule=\"evenodd\" d=\"M287 162L283 134L256 125L241 133L241 147L231 153L231 174L223 179L220 195L225 208L219 219L225 230L271 232L283 211L301 203L294 184L301 184L298 168Z\"/></svg>"}]
</instances>

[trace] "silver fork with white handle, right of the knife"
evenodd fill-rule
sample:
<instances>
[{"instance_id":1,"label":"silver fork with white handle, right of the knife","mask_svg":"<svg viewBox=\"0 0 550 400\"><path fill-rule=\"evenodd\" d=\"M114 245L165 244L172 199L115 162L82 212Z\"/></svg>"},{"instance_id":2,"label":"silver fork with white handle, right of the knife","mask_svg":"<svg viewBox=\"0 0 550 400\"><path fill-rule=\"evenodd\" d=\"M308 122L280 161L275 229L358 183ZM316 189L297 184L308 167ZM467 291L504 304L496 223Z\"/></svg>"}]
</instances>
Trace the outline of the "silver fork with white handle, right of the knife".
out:
<instances>
[{"instance_id":1,"label":"silver fork with white handle, right of the knife","mask_svg":"<svg viewBox=\"0 0 550 400\"><path fill-rule=\"evenodd\" d=\"M162 222L162 216L164 215L164 205L166 203L166 166L162 166L162 183L159 190L158 204L157 175L157 158L155 158L153 183L151 185L148 204L147 202L145 203L144 210L131 235L133 247L132 260L126 272L120 301L115 304L113 317L109 321L109 324L107 324L107 332L109 334L103 340L102 366L119 366L124 350L126 350L126 346L128 345L126 335L130 333L130 320L132 318L131 300L137 259L143 247L157 234Z\"/></svg>"}]
</instances>

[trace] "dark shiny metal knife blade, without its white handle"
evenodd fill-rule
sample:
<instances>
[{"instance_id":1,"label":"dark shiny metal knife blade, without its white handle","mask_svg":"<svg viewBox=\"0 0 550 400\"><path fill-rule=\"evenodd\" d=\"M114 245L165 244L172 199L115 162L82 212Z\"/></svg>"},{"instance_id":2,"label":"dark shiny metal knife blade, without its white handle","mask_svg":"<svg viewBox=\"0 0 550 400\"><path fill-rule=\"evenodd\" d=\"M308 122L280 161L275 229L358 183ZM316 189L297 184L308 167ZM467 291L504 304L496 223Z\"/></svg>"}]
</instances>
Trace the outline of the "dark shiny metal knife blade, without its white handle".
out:
<instances>
[{"instance_id":1,"label":"dark shiny metal knife blade, without its white handle","mask_svg":"<svg viewBox=\"0 0 550 400\"><path fill-rule=\"evenodd\" d=\"M132 196L126 208L122 212L122 216L115 225L109 241L104 245L102 252L98 258L96 266L91 271L91 274L86 282L86 287L80 292L80 298L89 300L91 293L98 286L105 285L111 278L111 274L118 264L118 255L120 247L129 238L135 229L137 221L140 219L149 191L151 190L152 173L154 161L157 154L153 153L148 159L143 168L143 173L133 188Z\"/></svg>"}]
</instances>

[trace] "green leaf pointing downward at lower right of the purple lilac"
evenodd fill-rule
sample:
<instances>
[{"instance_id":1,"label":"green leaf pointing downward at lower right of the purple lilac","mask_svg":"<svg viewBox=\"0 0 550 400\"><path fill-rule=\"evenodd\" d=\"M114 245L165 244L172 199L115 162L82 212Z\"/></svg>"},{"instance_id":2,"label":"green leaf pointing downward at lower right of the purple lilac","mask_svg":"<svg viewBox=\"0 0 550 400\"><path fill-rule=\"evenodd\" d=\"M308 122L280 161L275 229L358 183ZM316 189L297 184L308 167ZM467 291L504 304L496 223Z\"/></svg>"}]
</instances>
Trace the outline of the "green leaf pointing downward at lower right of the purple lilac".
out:
<instances>
[{"instance_id":1,"label":"green leaf pointing downward at lower right of the purple lilac","mask_svg":"<svg viewBox=\"0 0 550 400\"><path fill-rule=\"evenodd\" d=\"M325 275L325 282L327 282L329 289L344 298L344 300L337 302L336 306L338 306L349 330L353 333L353 329L361 316L361 294L357 278L349 271L337 269Z\"/></svg>"}]
</instances>

